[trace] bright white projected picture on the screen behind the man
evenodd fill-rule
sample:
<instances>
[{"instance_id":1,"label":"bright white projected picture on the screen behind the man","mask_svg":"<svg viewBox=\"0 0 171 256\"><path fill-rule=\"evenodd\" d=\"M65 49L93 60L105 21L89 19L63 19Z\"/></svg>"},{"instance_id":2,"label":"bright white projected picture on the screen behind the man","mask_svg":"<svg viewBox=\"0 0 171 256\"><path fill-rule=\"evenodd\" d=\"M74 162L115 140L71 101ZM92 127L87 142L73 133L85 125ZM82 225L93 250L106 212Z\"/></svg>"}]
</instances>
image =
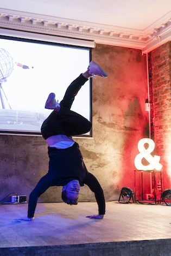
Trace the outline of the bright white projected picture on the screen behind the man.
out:
<instances>
[{"instance_id":1,"label":"bright white projected picture on the screen behind the man","mask_svg":"<svg viewBox=\"0 0 171 256\"><path fill-rule=\"evenodd\" d=\"M60 102L89 59L89 49L0 39L0 133L39 134L52 112L45 109L49 93ZM90 120L90 81L72 110Z\"/></svg>"}]
</instances>

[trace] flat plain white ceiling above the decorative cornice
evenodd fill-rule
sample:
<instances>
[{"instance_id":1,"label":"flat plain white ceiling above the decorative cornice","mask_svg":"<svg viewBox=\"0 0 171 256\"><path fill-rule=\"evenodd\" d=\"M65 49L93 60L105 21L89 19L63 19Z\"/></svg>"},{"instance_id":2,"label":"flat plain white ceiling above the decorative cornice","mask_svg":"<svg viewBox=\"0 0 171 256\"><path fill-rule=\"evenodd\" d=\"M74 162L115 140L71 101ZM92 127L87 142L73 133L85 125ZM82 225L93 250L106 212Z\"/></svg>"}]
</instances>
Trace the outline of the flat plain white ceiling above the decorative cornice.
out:
<instances>
[{"instance_id":1,"label":"flat plain white ceiling above the decorative cornice","mask_svg":"<svg viewBox=\"0 0 171 256\"><path fill-rule=\"evenodd\" d=\"M142 30L171 10L170 0L1 0L0 3L1 8Z\"/></svg>"}]
</instances>

